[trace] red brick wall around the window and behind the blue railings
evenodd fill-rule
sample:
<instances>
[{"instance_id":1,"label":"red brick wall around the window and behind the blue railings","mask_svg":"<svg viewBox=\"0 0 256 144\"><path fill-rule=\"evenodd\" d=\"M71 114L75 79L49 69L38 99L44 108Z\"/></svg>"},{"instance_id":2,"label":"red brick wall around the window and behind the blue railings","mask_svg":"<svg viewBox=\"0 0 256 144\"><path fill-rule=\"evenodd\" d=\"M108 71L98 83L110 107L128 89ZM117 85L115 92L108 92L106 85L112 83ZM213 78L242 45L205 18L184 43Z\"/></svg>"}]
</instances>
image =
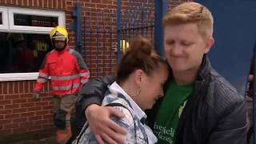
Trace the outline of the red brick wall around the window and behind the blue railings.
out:
<instances>
[{"instance_id":1,"label":"red brick wall around the window and behind the blue railings","mask_svg":"<svg viewBox=\"0 0 256 144\"><path fill-rule=\"evenodd\" d=\"M104 1L104 4L103 4ZM86 17L88 20L90 16L90 8L92 10L93 28L96 29L96 8L109 10L110 9L110 20L112 21L113 31L116 30L115 14L114 10L117 8L117 0L0 0L1 5L9 6L29 6L34 8L44 9L57 9L66 10L66 28L70 33L70 46L75 46L75 32L70 30L70 24L75 22L72 18L72 11L75 10L77 2L82 2L82 17ZM126 10L128 0L122 1L123 9ZM152 14L154 16L154 14ZM99 24L102 25L103 16L98 14ZM83 20L84 21L84 20ZM83 22L82 22L83 23ZM82 24L83 31L90 29L88 26ZM100 30L103 27L100 26ZM106 30L110 30L110 22L106 22ZM84 35L84 32L82 32ZM103 75L103 51L106 50L105 74L110 74L110 61L113 63L112 74L115 71L115 58L116 55L110 47L110 37L112 38L112 45L116 42L116 36L99 34L98 41L98 69L96 69L96 33L92 34L90 39L90 33L86 33L87 44L89 40L92 40L93 52L90 57L90 51L88 46L82 46L82 56L86 55L86 63L90 68L92 77L96 77L98 71L98 77ZM89 39L88 39L89 38ZM103 39L105 38L106 44L103 46ZM82 38L84 41L84 38ZM112 58L110 58L112 53ZM90 63L90 60L92 62ZM27 139L30 136L43 137L54 132L53 125L53 102L50 94L50 82L46 83L43 92L37 102L32 100L32 91L34 90L35 81L22 81L22 82L0 82L0 143L6 143L5 140L19 141L20 139ZM50 132L50 133L49 133Z\"/></svg>"}]
</instances>

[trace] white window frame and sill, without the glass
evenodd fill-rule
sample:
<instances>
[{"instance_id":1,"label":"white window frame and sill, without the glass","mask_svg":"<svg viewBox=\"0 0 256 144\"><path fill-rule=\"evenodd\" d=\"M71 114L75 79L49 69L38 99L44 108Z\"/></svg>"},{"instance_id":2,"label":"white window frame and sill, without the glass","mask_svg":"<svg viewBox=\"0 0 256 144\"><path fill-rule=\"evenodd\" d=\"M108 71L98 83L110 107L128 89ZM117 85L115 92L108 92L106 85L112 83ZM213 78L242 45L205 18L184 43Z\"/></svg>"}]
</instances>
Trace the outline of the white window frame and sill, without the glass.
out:
<instances>
[{"instance_id":1,"label":"white window frame and sill, without the glass","mask_svg":"<svg viewBox=\"0 0 256 144\"><path fill-rule=\"evenodd\" d=\"M31 8L19 8L14 6L0 6L2 23L0 32L16 32L26 34L50 34L53 27L41 26L14 26L14 14L29 14L38 16L58 17L58 25L66 28L66 13L58 10L38 10ZM0 74L0 82L36 80L37 73L6 73Z\"/></svg>"}]
</instances>

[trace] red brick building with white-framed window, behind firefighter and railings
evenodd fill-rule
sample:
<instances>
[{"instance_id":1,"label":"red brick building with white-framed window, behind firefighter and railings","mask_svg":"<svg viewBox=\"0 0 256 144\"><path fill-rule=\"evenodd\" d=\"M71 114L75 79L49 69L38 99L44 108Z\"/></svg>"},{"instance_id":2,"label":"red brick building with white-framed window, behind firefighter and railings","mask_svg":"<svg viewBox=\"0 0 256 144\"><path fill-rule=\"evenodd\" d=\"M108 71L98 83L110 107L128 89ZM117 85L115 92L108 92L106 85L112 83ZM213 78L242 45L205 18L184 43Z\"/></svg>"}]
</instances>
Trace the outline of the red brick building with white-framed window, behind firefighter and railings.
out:
<instances>
[{"instance_id":1,"label":"red brick building with white-framed window, behind firefighter and railings","mask_svg":"<svg viewBox=\"0 0 256 144\"><path fill-rule=\"evenodd\" d=\"M122 1L123 9L126 9L128 2L129 0ZM82 3L82 17L90 17L95 22L98 21L98 14L90 10L107 10L112 14L110 19L116 20L113 11L117 10L118 0L0 0L0 143L19 141L31 136L47 136L54 132L50 80L44 86L38 101L32 99L32 92L42 60L53 49L49 38L50 30L54 26L65 27L70 34L70 46L76 46L76 33L70 30L70 26L75 22L72 14L77 3ZM154 12L151 15L154 16ZM116 23L112 26L116 30ZM106 27L110 29L110 26ZM105 26L100 29L105 30ZM100 37L105 36L101 34ZM110 39L106 42L115 44L116 37L110 37L112 42ZM96 46L94 40L90 41ZM113 46L108 47L107 51L111 53L108 58L115 58ZM103 61L103 64L105 61L111 61L114 65L116 63L110 58L102 60L103 57L97 57L96 64L94 55L90 55L93 63L90 62L89 65L94 78L110 74L103 74L102 69L98 68L93 70L102 65L99 61ZM114 69L114 73L115 66L109 69Z\"/></svg>"}]
</instances>

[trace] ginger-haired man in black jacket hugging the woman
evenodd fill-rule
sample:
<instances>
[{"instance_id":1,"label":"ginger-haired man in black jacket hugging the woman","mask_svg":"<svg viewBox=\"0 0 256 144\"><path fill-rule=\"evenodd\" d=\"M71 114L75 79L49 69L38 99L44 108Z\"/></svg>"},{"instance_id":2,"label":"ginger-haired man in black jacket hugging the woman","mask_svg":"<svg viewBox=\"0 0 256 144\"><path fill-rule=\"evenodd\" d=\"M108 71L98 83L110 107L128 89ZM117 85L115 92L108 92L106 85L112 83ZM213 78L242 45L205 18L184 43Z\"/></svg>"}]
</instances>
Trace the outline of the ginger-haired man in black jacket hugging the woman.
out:
<instances>
[{"instance_id":1,"label":"ginger-haired man in black jacket hugging the woman","mask_svg":"<svg viewBox=\"0 0 256 144\"><path fill-rule=\"evenodd\" d=\"M214 45L214 18L205 6L185 2L163 18L164 50L170 78L151 110L147 124L158 144L245 144L246 102L218 72L207 56ZM78 102L99 143L125 143L126 130L110 120L123 117L114 107L102 107L114 76L98 78L82 87Z\"/></svg>"}]
</instances>

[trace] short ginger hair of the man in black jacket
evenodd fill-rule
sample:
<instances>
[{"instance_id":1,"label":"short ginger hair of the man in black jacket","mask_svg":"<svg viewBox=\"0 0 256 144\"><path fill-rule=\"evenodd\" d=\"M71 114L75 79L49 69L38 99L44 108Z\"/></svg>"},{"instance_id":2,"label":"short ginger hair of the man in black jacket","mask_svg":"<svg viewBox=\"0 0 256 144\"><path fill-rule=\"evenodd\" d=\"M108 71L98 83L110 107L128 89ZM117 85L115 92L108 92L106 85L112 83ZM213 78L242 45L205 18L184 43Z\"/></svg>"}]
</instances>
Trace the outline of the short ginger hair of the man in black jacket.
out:
<instances>
[{"instance_id":1,"label":"short ginger hair of the man in black jacket","mask_svg":"<svg viewBox=\"0 0 256 144\"><path fill-rule=\"evenodd\" d=\"M184 2L174 7L162 20L164 27L186 23L196 23L199 34L203 37L213 36L214 18L206 6L202 6L197 2Z\"/></svg>"}]
</instances>

